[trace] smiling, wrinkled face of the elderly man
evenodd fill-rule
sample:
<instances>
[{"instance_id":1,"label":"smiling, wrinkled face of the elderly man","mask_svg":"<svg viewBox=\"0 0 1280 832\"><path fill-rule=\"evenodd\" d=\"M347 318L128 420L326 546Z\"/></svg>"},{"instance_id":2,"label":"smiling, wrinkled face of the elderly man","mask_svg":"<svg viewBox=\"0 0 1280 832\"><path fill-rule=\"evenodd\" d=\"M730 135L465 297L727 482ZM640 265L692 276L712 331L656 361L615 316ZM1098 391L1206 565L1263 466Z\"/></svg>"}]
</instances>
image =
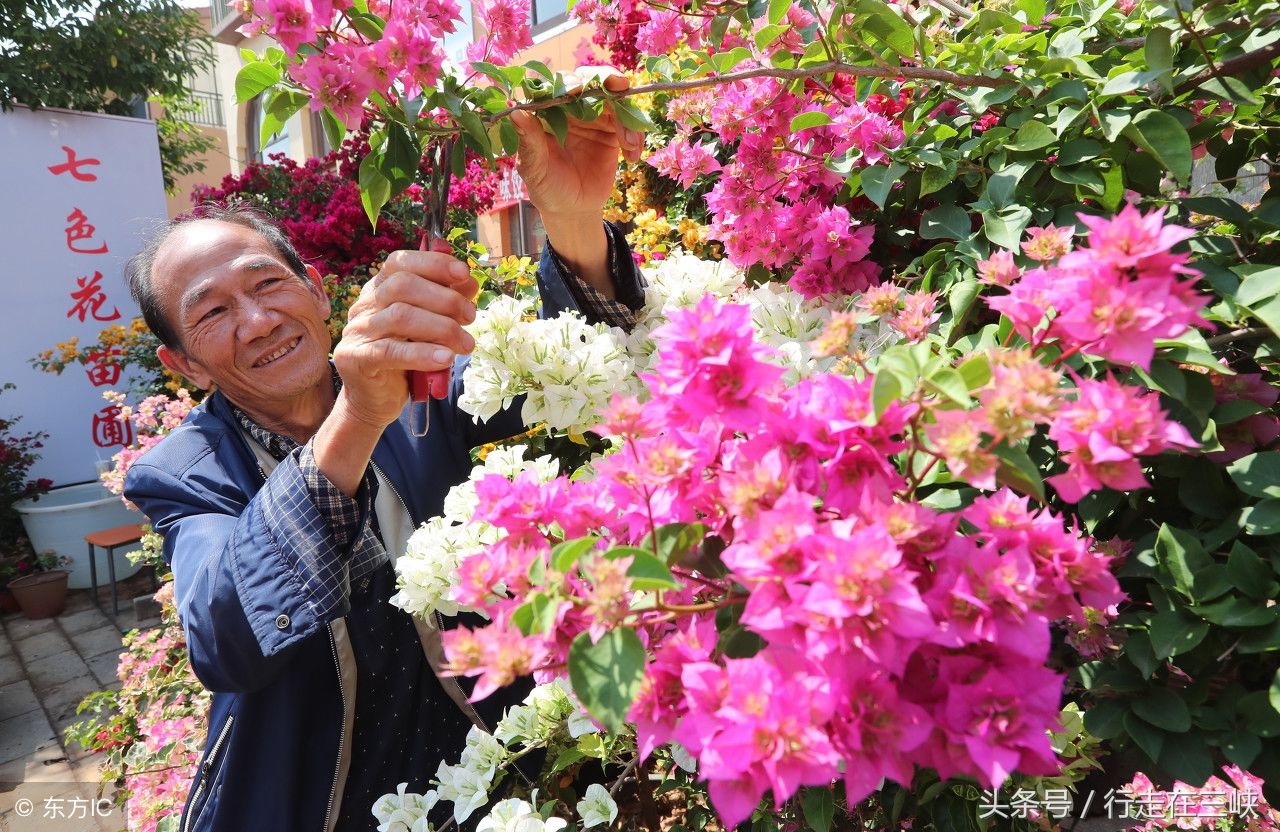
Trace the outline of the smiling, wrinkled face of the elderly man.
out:
<instances>
[{"instance_id":1,"label":"smiling, wrinkled face of the elderly man","mask_svg":"<svg viewBox=\"0 0 1280 832\"><path fill-rule=\"evenodd\" d=\"M329 379L329 302L251 228L196 220L160 247L151 285L179 344L161 361L216 385L251 415L278 416Z\"/></svg>"}]
</instances>

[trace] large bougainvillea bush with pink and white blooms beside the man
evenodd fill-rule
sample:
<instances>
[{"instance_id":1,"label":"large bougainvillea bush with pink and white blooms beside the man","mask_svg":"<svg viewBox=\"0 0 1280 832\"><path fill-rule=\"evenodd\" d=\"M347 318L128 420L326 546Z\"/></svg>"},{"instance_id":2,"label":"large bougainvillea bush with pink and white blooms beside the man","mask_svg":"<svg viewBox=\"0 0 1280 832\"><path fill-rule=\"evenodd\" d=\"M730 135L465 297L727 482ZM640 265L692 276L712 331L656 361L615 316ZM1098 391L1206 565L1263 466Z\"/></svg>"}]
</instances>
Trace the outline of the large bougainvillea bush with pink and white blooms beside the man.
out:
<instances>
[{"instance_id":1,"label":"large bougainvillea bush with pink and white blooms beside the man","mask_svg":"<svg viewBox=\"0 0 1280 832\"><path fill-rule=\"evenodd\" d=\"M527 4L476 12L453 69L451 3L261 0L284 49L241 92L372 119L371 215L444 136L454 173L517 150L516 109L561 141L660 124L689 198L645 210L727 260L667 239L630 334L518 294L472 326L463 406L588 453L490 453L398 600L489 617L445 640L476 696L567 680L600 728L480 828L1043 827L983 801L1074 815L1094 759L1112 799L1230 781L1252 824L1239 792L1280 785L1280 4L580 3L643 69L621 95L508 65ZM467 754L379 822L479 813L502 754ZM580 808L595 785L626 810Z\"/></svg>"}]
</instances>

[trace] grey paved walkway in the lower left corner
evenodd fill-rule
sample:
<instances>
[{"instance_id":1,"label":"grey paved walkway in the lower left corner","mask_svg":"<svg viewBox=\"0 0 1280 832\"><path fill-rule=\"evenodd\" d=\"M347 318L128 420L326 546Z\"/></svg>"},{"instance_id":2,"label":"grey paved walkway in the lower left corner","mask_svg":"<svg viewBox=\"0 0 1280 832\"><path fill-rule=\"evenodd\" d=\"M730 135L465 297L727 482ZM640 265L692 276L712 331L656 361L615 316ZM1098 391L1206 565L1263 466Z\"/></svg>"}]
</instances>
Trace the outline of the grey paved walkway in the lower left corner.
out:
<instances>
[{"instance_id":1,"label":"grey paved walkway in the lower left corner","mask_svg":"<svg viewBox=\"0 0 1280 832\"><path fill-rule=\"evenodd\" d=\"M137 621L129 604L113 621L87 590L72 591L56 618L0 620L0 832L124 828L109 801L95 804L99 755L65 740L64 731L84 718L76 705L87 694L120 686L122 632L156 623Z\"/></svg>"}]
</instances>

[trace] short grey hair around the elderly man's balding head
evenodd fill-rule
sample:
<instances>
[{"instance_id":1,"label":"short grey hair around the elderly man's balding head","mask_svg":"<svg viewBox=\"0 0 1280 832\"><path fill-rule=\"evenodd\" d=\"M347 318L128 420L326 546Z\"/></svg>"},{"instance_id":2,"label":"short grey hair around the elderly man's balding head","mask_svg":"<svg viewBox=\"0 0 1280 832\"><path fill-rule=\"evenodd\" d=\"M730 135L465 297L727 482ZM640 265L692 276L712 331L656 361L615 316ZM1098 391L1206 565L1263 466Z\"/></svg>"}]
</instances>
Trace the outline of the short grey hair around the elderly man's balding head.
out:
<instances>
[{"instance_id":1,"label":"short grey hair around the elderly man's balding head","mask_svg":"<svg viewBox=\"0 0 1280 832\"><path fill-rule=\"evenodd\" d=\"M307 268L302 262L298 250L293 247L293 243L289 242L288 236L275 220L257 209L243 205L225 207L206 205L186 216L169 220L147 239L142 251L131 257L128 264L125 264L124 280L129 287L129 294L133 296L133 301L142 310L142 320L146 323L147 329L155 334L161 344L170 349L182 349L182 339L178 338L178 332L173 323L165 317L164 310L160 306L160 298L151 284L151 273L155 269L156 255L165 241L183 225L197 220L218 220L219 223L253 229L284 259L284 262L288 264L293 274L298 275L302 280L307 279Z\"/></svg>"}]
</instances>

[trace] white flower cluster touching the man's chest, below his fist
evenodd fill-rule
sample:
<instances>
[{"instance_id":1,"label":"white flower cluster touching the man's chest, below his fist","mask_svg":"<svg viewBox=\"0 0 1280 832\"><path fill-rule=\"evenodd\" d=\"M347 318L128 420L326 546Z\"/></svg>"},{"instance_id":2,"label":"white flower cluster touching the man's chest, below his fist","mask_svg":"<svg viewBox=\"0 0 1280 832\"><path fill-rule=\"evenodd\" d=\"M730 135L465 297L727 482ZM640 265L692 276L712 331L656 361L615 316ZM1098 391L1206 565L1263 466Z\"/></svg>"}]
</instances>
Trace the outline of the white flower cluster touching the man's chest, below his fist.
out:
<instances>
[{"instance_id":1,"label":"white flower cluster touching the man's chest, below his fist","mask_svg":"<svg viewBox=\"0 0 1280 832\"><path fill-rule=\"evenodd\" d=\"M506 534L489 524L471 521L479 504L476 483L492 474L513 480L526 470L535 471L541 483L559 475L556 460L549 456L525 460L526 451L526 445L497 448L472 468L467 481L449 489L444 513L422 524L408 539L408 550L396 561L399 591L392 598L393 604L428 621L435 613L458 614L462 607L453 599L458 567Z\"/></svg>"}]
</instances>

